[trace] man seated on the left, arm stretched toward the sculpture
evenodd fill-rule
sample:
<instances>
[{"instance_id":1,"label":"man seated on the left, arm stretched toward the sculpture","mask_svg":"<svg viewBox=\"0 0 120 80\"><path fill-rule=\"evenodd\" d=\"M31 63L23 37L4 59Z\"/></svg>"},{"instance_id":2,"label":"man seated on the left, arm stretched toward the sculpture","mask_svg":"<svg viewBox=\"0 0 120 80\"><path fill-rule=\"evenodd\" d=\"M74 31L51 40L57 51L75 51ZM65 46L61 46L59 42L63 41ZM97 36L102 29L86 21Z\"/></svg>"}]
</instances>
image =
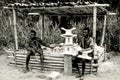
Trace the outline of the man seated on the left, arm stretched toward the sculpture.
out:
<instances>
[{"instance_id":1,"label":"man seated on the left, arm stretched toward the sculpture","mask_svg":"<svg viewBox=\"0 0 120 80\"><path fill-rule=\"evenodd\" d=\"M26 71L29 71L29 61L30 61L30 56L35 55L36 53L39 54L40 59L41 59L41 69L43 70L43 50L41 48L41 45L49 47L49 48L53 48L50 47L48 44L46 44L45 42L43 42L40 38L36 37L36 31L31 30L30 32L30 38L26 43L26 49L27 49L27 58L26 58Z\"/></svg>"}]
</instances>

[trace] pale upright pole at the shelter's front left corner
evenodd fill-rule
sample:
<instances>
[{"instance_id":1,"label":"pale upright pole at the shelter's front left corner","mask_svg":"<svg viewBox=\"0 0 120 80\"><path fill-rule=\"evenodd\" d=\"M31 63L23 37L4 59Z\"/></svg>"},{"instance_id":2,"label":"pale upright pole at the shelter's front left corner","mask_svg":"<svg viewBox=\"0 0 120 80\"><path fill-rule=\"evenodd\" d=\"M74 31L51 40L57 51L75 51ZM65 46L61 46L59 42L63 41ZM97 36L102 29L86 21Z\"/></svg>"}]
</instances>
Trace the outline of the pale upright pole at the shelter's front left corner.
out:
<instances>
[{"instance_id":1,"label":"pale upright pole at the shelter's front left corner","mask_svg":"<svg viewBox=\"0 0 120 80\"><path fill-rule=\"evenodd\" d=\"M17 24L16 24L16 11L13 8L13 25L14 25L14 37L15 37L15 50L18 50L18 37L17 37Z\"/></svg>"}]
</instances>

